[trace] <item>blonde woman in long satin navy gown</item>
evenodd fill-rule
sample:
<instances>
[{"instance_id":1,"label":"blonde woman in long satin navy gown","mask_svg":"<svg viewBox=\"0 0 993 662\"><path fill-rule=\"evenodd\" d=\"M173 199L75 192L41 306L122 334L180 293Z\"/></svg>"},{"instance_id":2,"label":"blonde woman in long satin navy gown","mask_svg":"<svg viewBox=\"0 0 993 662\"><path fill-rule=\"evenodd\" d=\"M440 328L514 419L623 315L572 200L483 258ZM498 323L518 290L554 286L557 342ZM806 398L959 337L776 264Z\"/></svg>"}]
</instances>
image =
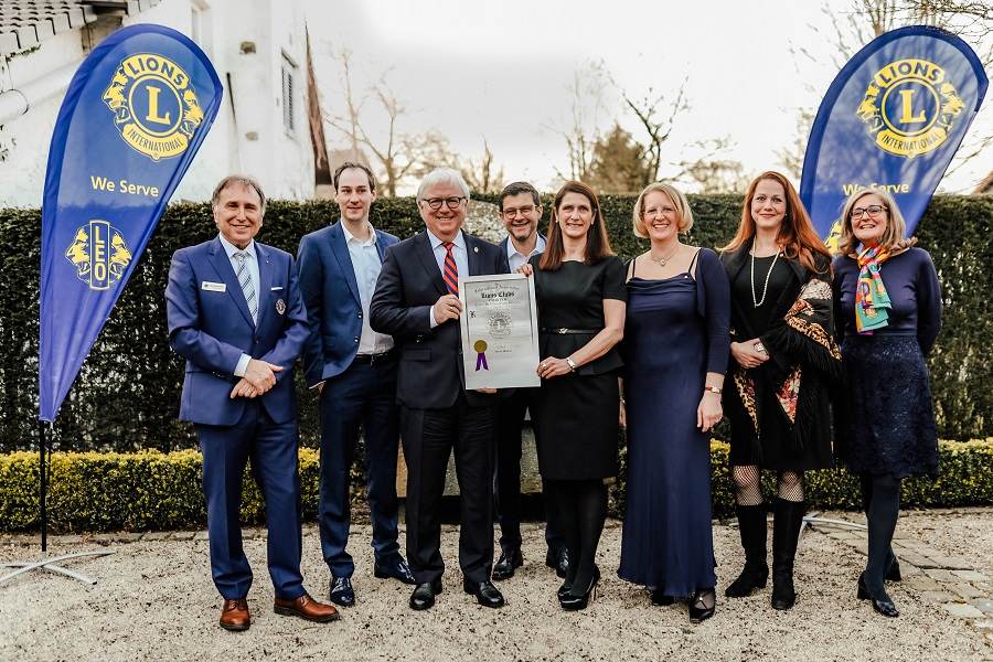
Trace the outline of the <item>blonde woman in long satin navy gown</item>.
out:
<instances>
[{"instance_id":1,"label":"blonde woman in long satin navy gown","mask_svg":"<svg viewBox=\"0 0 993 662\"><path fill-rule=\"evenodd\" d=\"M680 242L693 226L686 197L650 184L634 234L651 248L628 263L621 412L628 485L618 576L669 605L693 594L690 620L715 608L711 436L720 420L730 293L717 254Z\"/></svg>"}]
</instances>

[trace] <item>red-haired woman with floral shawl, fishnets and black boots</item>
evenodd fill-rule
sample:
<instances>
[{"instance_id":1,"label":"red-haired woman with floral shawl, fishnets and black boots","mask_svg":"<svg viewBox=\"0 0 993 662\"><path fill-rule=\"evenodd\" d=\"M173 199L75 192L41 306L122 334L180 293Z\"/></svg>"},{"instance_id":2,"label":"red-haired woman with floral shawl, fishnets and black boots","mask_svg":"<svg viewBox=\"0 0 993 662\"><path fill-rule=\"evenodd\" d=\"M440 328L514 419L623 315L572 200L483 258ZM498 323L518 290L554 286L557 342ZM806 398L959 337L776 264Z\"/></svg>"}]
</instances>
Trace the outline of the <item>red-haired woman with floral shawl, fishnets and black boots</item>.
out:
<instances>
[{"instance_id":1,"label":"red-haired woman with floral shawl, fishnets and black boots","mask_svg":"<svg viewBox=\"0 0 993 662\"><path fill-rule=\"evenodd\" d=\"M831 467L831 384L841 378L832 335L831 256L783 175L748 188L738 234L723 248L732 291L732 360L725 391L730 465L745 568L724 591L765 588L761 469L779 474L773 502L772 607L796 601L793 558L803 523L803 472Z\"/></svg>"}]
</instances>

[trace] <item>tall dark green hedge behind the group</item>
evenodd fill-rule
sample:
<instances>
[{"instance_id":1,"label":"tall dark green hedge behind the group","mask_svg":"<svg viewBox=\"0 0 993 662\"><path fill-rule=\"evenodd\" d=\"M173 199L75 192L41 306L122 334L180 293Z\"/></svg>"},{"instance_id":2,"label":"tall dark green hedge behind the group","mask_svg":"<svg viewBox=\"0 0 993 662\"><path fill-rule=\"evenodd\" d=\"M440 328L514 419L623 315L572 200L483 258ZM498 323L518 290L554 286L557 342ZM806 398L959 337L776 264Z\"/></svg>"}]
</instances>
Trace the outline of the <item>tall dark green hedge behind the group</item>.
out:
<instances>
[{"instance_id":1,"label":"tall dark green hedge behind the group","mask_svg":"<svg viewBox=\"0 0 993 662\"><path fill-rule=\"evenodd\" d=\"M494 195L478 196L494 201ZM545 195L546 228L552 199ZM696 224L687 241L719 246L735 233L741 197L690 196ZM631 257L647 242L631 233L634 199L605 195L601 206L613 249ZM331 201L273 201L259 241L296 253L300 237L338 217ZM381 197L373 223L401 237L423 227L414 200ZM993 309L993 196L939 195L917 229L935 258L944 296L944 323L928 360L939 434L944 439L993 437L993 353L986 330ZM213 237L206 204L170 205L139 257L55 421L61 451L163 452L195 448L192 426L177 419L182 361L169 349L163 292L172 253ZM38 299L41 213L0 210L0 452L38 447ZM299 378L299 375L298 375ZM300 384L300 429L307 447L318 444L316 394ZM724 435L718 427L717 437Z\"/></svg>"}]
</instances>

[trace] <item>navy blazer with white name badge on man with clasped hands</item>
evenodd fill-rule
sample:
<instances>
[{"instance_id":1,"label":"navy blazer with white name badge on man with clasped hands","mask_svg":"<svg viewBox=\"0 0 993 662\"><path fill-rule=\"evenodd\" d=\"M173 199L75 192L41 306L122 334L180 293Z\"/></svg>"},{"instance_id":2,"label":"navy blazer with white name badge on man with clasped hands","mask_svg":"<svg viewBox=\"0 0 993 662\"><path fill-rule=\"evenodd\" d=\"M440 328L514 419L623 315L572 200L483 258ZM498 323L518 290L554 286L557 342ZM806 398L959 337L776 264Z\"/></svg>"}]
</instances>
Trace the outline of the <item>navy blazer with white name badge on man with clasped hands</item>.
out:
<instances>
[{"instance_id":1,"label":"navy blazer with white name badge on man with clasped hands","mask_svg":"<svg viewBox=\"0 0 993 662\"><path fill-rule=\"evenodd\" d=\"M307 340L297 269L288 253L257 242L255 250L257 327L218 237L172 256L166 311L169 344L186 360L182 420L224 426L238 421L247 398L232 398L231 391L241 380L234 370L243 353L282 366L275 373L276 386L258 397L275 423L297 417L293 363Z\"/></svg>"}]
</instances>

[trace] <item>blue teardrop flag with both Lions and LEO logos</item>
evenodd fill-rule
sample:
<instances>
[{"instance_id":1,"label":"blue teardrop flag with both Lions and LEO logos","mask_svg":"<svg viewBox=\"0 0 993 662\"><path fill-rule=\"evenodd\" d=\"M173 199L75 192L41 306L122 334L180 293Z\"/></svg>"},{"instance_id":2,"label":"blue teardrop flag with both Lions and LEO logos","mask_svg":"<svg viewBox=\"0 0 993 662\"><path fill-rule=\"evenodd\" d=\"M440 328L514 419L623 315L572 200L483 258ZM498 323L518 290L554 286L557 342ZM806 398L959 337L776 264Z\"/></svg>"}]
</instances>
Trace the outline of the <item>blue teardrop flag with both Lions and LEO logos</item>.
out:
<instances>
[{"instance_id":1,"label":"blue teardrop flag with both Lions and LEO logos","mask_svg":"<svg viewBox=\"0 0 993 662\"><path fill-rule=\"evenodd\" d=\"M113 33L73 77L42 205L42 420L55 419L222 95L196 44L153 24Z\"/></svg>"}]
</instances>

